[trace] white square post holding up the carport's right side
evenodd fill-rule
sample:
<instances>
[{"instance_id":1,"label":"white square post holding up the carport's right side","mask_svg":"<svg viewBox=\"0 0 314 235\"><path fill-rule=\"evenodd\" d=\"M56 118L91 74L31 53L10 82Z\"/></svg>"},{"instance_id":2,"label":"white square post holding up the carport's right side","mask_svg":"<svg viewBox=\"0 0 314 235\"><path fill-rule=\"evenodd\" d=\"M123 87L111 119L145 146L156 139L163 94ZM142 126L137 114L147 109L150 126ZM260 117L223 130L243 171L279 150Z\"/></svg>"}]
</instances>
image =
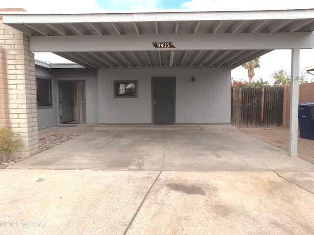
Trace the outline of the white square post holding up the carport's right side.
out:
<instances>
[{"instance_id":1,"label":"white square post holding up the carport's right side","mask_svg":"<svg viewBox=\"0 0 314 235\"><path fill-rule=\"evenodd\" d=\"M290 86L289 156L298 156L300 49L292 49Z\"/></svg>"}]
</instances>

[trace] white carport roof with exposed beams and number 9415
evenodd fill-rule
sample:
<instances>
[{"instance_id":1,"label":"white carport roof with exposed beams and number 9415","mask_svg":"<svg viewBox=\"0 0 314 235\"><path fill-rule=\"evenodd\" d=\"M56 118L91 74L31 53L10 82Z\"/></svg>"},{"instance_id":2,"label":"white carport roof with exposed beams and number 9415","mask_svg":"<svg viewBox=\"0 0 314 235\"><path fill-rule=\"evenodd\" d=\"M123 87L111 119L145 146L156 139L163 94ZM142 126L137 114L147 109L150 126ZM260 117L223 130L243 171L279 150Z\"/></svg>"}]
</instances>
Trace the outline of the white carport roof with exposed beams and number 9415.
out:
<instances>
[{"instance_id":1,"label":"white carport roof with exposed beams and number 9415","mask_svg":"<svg viewBox=\"0 0 314 235\"><path fill-rule=\"evenodd\" d=\"M30 36L31 52L96 69L235 68L275 49L314 48L314 9L1 15Z\"/></svg>"}]
</instances>

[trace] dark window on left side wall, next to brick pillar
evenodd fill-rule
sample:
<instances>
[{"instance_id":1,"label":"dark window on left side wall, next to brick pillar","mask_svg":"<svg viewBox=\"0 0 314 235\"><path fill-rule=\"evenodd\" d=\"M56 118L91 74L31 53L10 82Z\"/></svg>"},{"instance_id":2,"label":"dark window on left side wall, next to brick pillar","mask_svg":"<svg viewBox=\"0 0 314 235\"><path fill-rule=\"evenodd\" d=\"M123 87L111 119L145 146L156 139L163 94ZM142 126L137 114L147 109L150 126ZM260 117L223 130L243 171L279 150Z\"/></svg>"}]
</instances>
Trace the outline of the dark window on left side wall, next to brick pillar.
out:
<instances>
[{"instance_id":1,"label":"dark window on left side wall, next to brick pillar","mask_svg":"<svg viewBox=\"0 0 314 235\"><path fill-rule=\"evenodd\" d=\"M52 91L50 78L36 78L37 90L37 106L49 107L52 106Z\"/></svg>"}]
</instances>

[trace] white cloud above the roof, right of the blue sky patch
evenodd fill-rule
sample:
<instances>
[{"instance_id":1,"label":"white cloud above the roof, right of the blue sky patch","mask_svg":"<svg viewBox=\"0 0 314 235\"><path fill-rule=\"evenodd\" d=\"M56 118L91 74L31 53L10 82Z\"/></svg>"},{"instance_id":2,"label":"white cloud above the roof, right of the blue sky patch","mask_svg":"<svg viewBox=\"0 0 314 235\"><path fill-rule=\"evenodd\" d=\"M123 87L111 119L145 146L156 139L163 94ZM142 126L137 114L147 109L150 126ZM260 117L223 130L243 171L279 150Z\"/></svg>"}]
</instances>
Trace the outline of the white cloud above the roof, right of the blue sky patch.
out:
<instances>
[{"instance_id":1,"label":"white cloud above the roof, right of the blue sky patch","mask_svg":"<svg viewBox=\"0 0 314 235\"><path fill-rule=\"evenodd\" d=\"M188 9L274 9L274 8L298 8L298 7L314 7L313 0L191 0L181 4L183 8Z\"/></svg>"}]
</instances>

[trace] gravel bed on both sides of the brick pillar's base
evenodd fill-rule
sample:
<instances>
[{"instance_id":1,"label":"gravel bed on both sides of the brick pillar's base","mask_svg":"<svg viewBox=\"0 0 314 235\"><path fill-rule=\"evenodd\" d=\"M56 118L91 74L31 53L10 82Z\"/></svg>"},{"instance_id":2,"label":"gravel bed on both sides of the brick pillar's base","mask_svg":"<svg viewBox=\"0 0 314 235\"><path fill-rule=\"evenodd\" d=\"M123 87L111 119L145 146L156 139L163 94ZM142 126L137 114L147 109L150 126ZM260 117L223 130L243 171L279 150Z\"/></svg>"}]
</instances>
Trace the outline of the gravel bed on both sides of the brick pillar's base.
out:
<instances>
[{"instance_id":1,"label":"gravel bed on both sides of the brick pillar's base","mask_svg":"<svg viewBox=\"0 0 314 235\"><path fill-rule=\"evenodd\" d=\"M54 134L42 139L39 139L39 153L44 152L48 149L51 149L53 146L62 144L68 140L74 139L76 137L78 137L81 134ZM0 169L4 169L6 168L8 165L12 165L14 163L17 163L19 161L24 160L27 157L17 157L14 160L11 160L9 162L1 162L0 163Z\"/></svg>"}]
</instances>

